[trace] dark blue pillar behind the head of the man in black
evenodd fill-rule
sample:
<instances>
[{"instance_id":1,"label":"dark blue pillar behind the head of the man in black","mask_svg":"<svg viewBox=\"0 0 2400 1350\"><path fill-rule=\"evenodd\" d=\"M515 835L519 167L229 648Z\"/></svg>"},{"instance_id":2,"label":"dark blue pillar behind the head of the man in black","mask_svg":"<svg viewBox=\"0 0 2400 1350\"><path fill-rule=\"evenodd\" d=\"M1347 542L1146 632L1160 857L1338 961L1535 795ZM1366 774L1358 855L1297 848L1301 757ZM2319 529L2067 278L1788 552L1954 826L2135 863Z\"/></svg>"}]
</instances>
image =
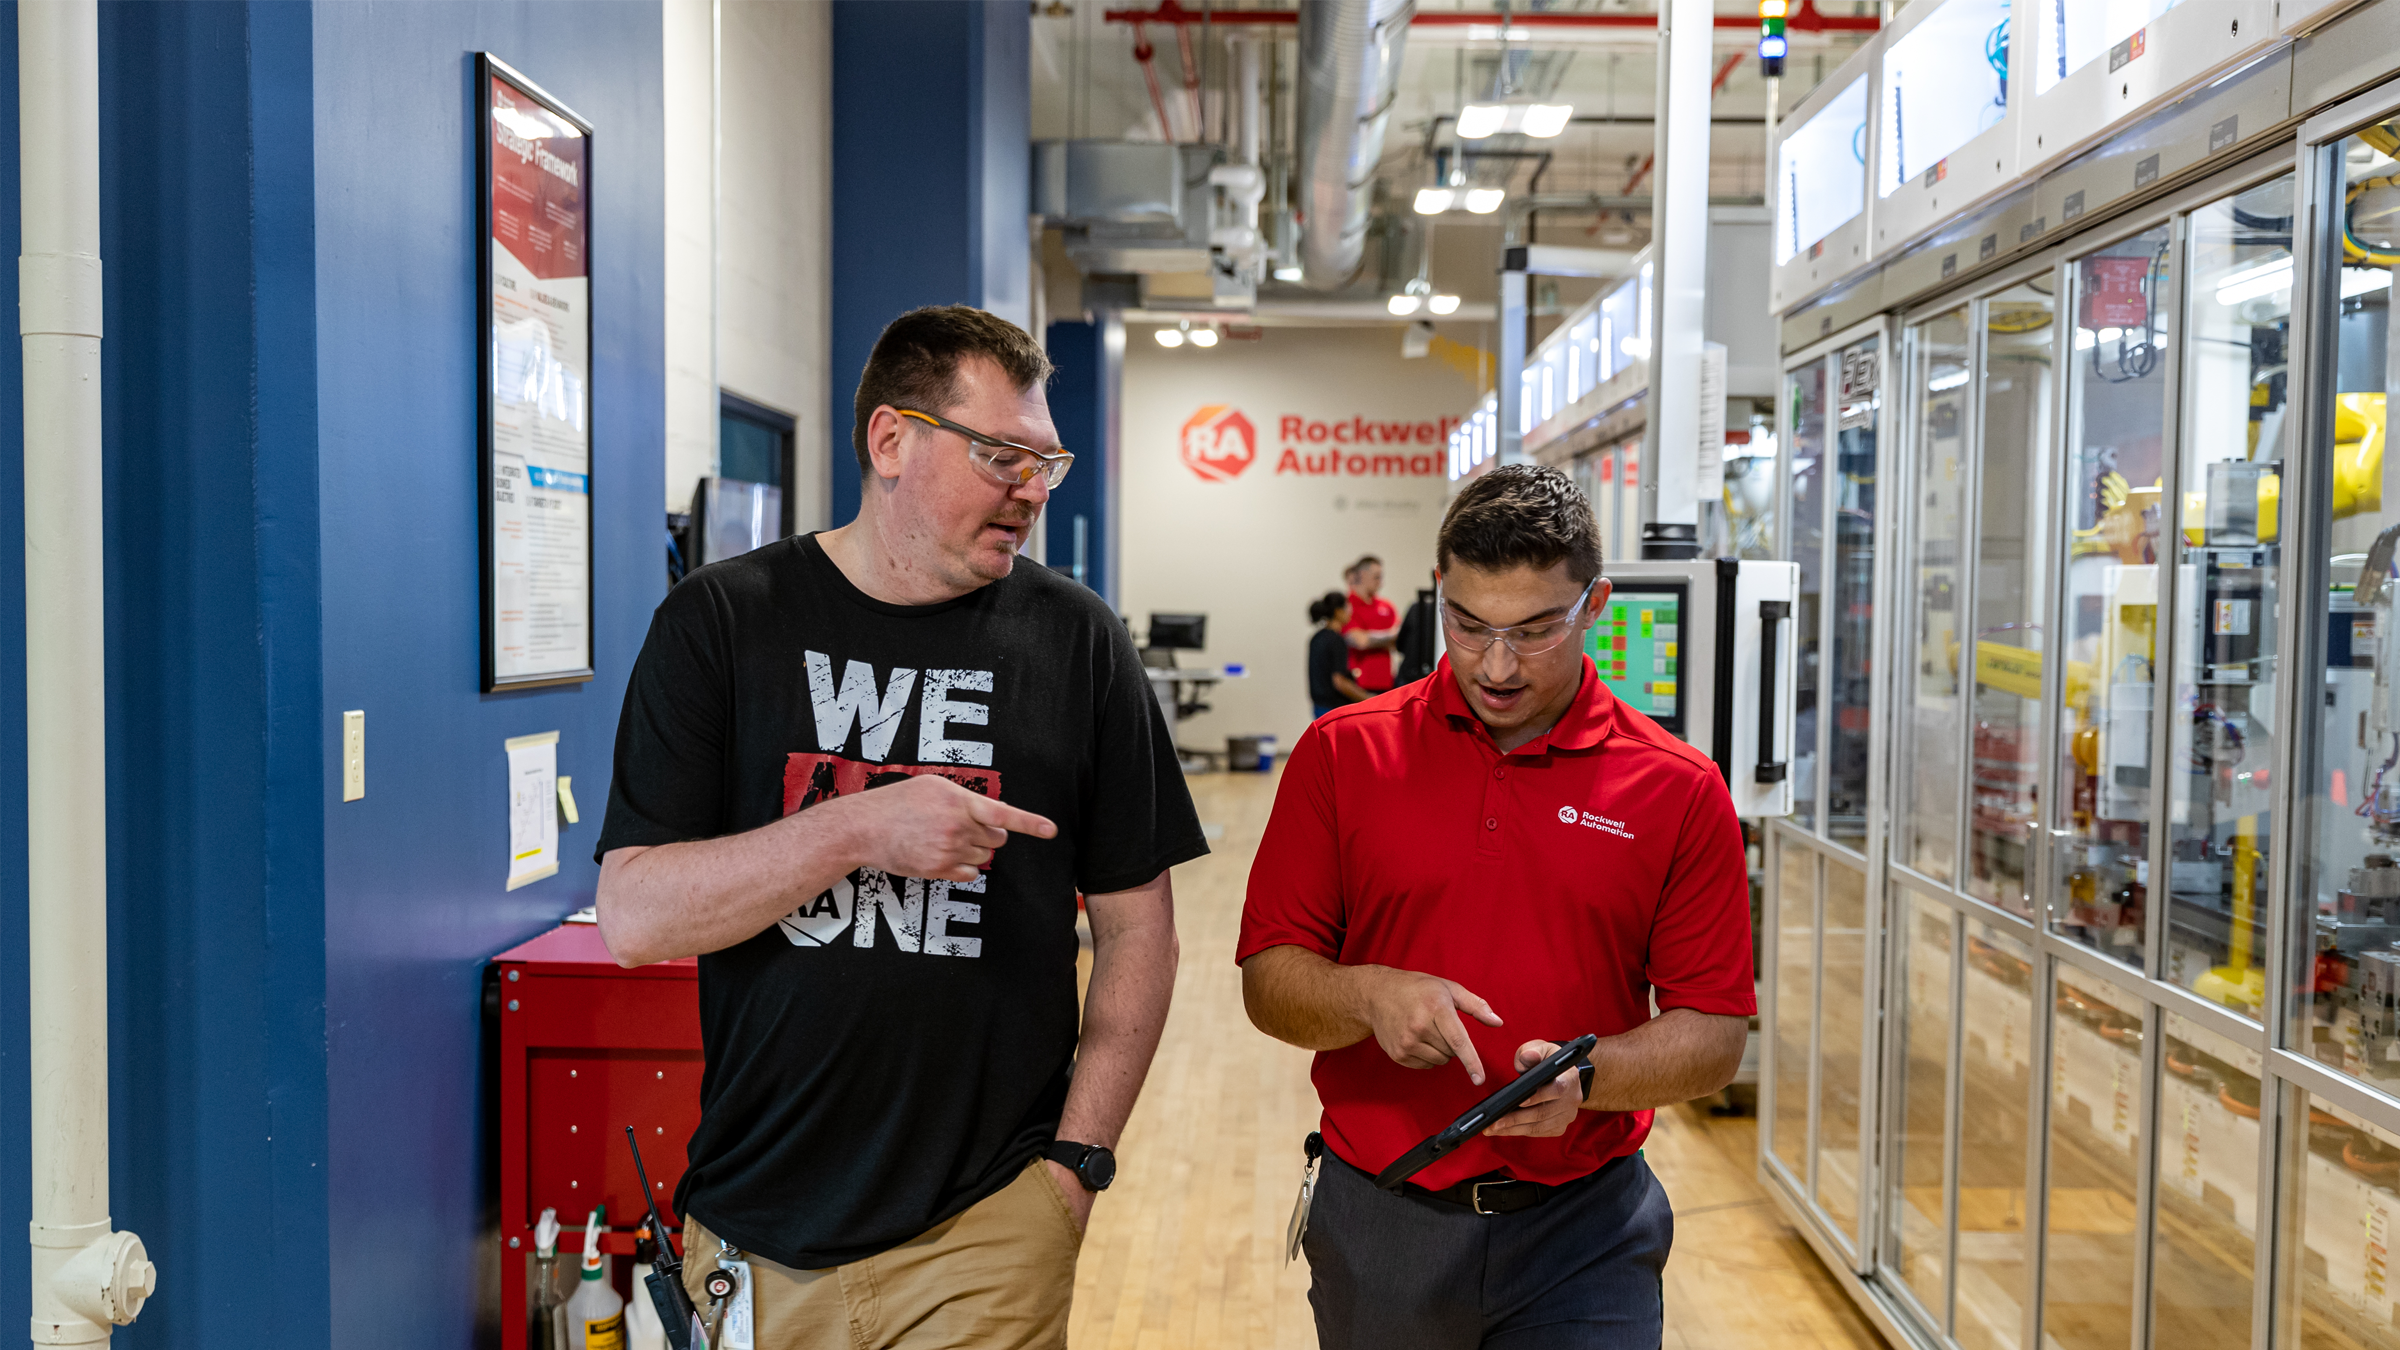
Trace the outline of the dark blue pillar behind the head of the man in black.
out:
<instances>
[{"instance_id":1,"label":"dark blue pillar behind the head of the man in black","mask_svg":"<svg viewBox=\"0 0 2400 1350\"><path fill-rule=\"evenodd\" d=\"M883 324L1030 322L1030 53L1022 0L833 0L833 524L859 512L852 399Z\"/></svg>"}]
</instances>

